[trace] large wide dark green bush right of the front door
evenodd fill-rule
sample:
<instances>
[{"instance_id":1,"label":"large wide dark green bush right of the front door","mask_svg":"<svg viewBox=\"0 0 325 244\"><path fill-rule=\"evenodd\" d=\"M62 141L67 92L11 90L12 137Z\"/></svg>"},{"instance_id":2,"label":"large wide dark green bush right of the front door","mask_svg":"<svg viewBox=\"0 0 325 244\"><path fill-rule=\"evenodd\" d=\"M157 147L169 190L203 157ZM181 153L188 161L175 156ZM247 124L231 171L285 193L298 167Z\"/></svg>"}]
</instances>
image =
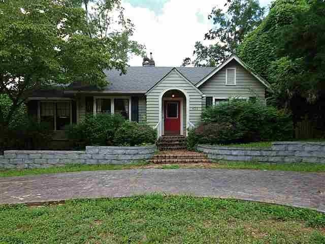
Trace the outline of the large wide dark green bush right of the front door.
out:
<instances>
[{"instance_id":1,"label":"large wide dark green bush right of the front door","mask_svg":"<svg viewBox=\"0 0 325 244\"><path fill-rule=\"evenodd\" d=\"M258 102L231 101L207 108L201 124L189 132L188 148L197 143L230 144L293 138L290 114Z\"/></svg>"}]
</instances>

